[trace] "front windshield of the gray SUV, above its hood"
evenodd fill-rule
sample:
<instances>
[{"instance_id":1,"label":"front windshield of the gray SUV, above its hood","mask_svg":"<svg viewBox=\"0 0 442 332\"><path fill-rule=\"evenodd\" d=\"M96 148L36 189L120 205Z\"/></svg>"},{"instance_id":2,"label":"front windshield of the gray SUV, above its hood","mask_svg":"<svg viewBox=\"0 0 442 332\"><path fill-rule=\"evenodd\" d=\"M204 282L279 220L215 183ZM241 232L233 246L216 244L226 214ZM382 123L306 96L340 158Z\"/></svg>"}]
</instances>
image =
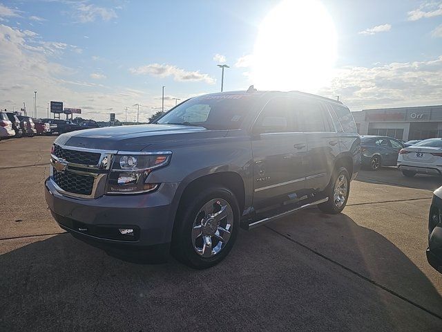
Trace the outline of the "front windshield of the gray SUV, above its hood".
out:
<instances>
[{"instance_id":1,"label":"front windshield of the gray SUV, above its hood","mask_svg":"<svg viewBox=\"0 0 442 332\"><path fill-rule=\"evenodd\" d=\"M206 95L188 100L154 121L207 129L239 129L251 106L252 95Z\"/></svg>"}]
</instances>

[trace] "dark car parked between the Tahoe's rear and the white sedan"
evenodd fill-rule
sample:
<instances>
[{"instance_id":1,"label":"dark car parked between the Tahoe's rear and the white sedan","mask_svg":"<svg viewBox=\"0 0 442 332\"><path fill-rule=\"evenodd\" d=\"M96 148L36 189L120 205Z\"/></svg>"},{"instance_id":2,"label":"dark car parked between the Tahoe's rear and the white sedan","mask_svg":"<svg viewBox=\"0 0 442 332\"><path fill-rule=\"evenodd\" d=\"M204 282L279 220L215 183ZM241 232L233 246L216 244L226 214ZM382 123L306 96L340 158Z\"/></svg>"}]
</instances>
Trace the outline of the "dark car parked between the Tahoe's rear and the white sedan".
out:
<instances>
[{"instance_id":1,"label":"dark car parked between the Tahoe's rear and the white sedan","mask_svg":"<svg viewBox=\"0 0 442 332\"><path fill-rule=\"evenodd\" d=\"M398 154L404 145L387 136L361 136L362 165L372 171L382 166L396 166Z\"/></svg>"}]
</instances>

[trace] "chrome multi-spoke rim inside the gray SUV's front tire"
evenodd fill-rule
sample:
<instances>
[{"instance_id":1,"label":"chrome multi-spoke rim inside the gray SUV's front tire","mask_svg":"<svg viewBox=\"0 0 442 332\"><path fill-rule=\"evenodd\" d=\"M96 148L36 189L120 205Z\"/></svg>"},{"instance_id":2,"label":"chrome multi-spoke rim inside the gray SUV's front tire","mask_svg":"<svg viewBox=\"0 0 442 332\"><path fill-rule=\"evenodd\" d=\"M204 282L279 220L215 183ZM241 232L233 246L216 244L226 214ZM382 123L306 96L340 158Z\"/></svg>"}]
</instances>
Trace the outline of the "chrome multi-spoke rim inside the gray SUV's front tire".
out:
<instances>
[{"instance_id":1,"label":"chrome multi-spoke rim inside the gray SUV's front tire","mask_svg":"<svg viewBox=\"0 0 442 332\"><path fill-rule=\"evenodd\" d=\"M193 221L192 244L198 255L212 257L221 252L233 230L233 210L224 199L211 199Z\"/></svg>"}]
</instances>

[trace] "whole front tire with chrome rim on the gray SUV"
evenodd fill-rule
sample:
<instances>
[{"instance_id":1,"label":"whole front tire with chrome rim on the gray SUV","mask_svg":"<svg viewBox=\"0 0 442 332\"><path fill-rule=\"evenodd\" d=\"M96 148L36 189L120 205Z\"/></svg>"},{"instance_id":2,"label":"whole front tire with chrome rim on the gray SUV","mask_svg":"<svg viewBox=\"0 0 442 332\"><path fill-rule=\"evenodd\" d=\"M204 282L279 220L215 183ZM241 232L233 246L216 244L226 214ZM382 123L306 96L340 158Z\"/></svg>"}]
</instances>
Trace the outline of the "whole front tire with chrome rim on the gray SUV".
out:
<instances>
[{"instance_id":1,"label":"whole front tire with chrome rim on the gray SUV","mask_svg":"<svg viewBox=\"0 0 442 332\"><path fill-rule=\"evenodd\" d=\"M171 253L191 268L210 268L233 247L240 209L235 195L225 187L209 187L193 194L187 194L180 203Z\"/></svg>"}]
</instances>

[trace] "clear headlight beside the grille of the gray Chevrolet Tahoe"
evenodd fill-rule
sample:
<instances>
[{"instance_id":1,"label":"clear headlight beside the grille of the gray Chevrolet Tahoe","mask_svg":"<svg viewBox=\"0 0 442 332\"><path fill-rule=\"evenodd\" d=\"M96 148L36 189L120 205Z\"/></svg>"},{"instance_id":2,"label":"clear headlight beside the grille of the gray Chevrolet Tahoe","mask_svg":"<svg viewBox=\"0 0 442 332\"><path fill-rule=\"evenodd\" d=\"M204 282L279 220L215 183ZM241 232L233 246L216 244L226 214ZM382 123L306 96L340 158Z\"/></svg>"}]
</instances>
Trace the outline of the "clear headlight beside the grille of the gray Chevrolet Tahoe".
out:
<instances>
[{"instance_id":1,"label":"clear headlight beside the grille of the gray Chevrolet Tahoe","mask_svg":"<svg viewBox=\"0 0 442 332\"><path fill-rule=\"evenodd\" d=\"M147 183L148 175L169 165L171 151L119 152L108 176L107 194L140 194L156 190L159 183Z\"/></svg>"}]
</instances>

